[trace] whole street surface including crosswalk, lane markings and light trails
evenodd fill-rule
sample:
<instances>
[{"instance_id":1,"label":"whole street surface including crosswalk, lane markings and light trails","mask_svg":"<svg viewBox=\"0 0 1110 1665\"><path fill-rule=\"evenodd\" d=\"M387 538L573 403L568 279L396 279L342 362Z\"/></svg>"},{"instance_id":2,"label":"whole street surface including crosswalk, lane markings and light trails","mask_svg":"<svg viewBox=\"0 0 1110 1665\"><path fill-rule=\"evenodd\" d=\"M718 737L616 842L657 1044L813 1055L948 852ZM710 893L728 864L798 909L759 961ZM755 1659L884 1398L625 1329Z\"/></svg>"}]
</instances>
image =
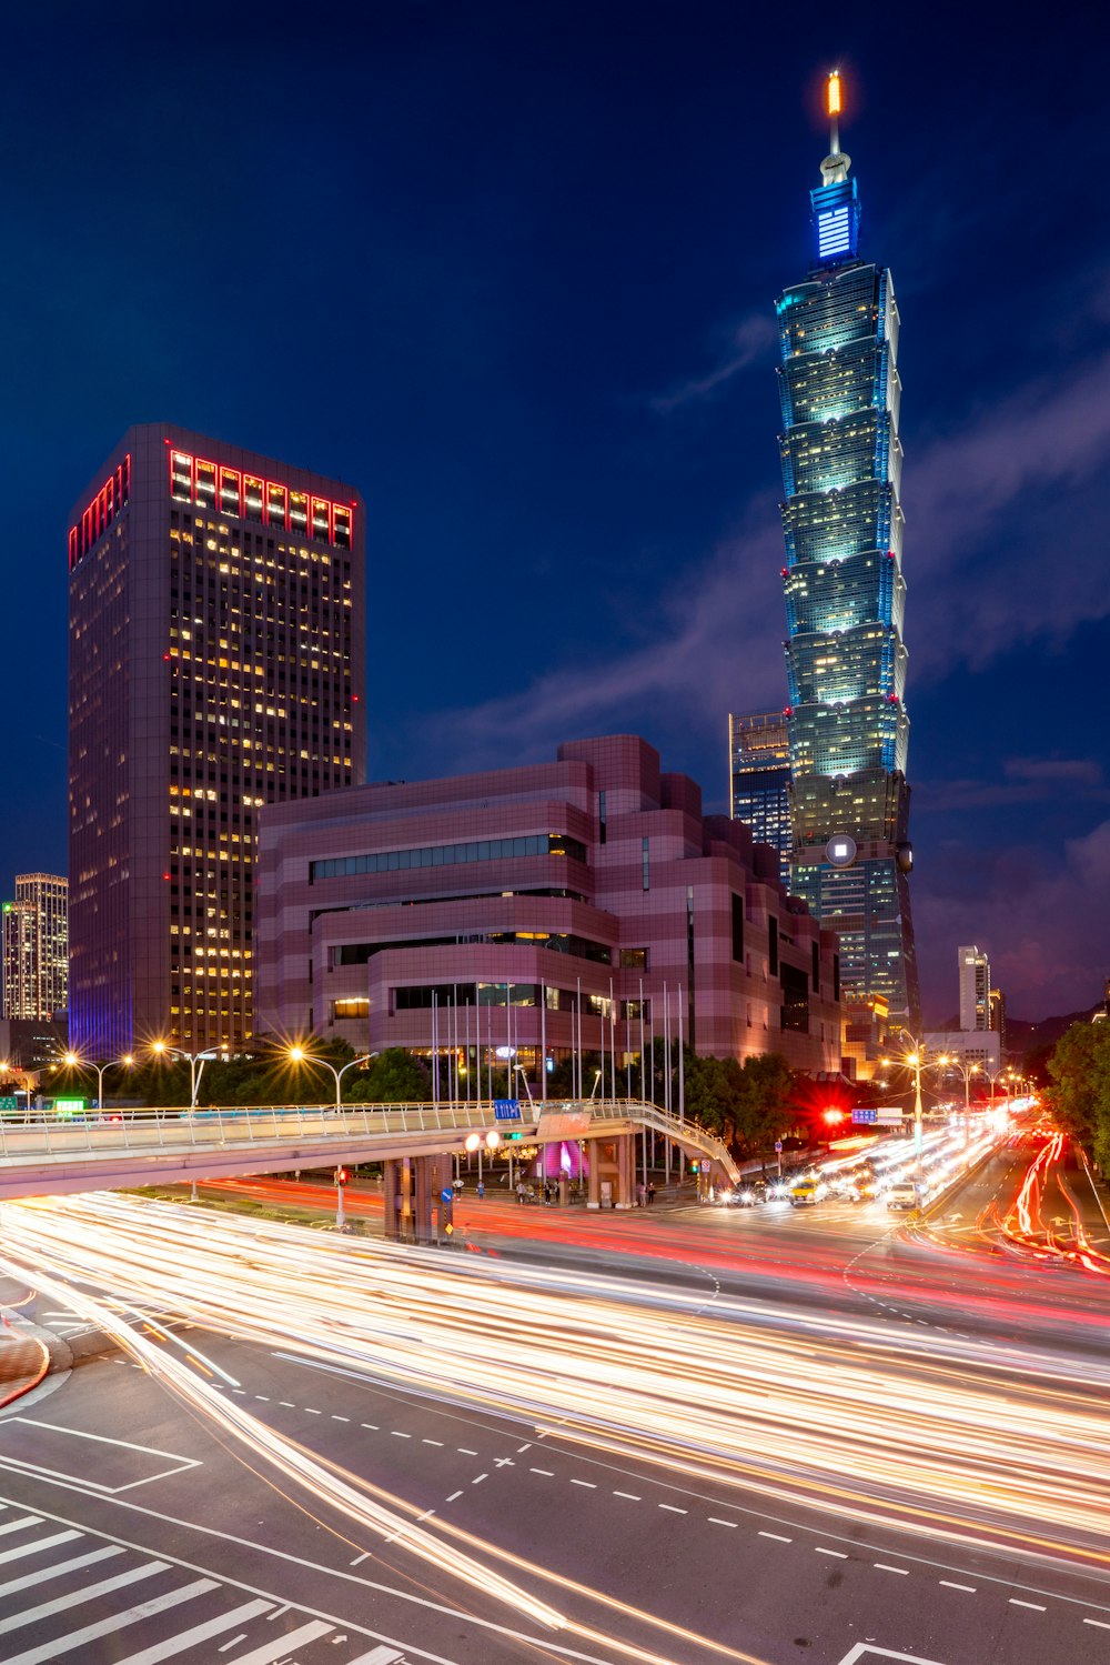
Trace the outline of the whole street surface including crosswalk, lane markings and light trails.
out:
<instances>
[{"instance_id":1,"label":"whole street surface including crosswalk, lane markings and light trails","mask_svg":"<svg viewBox=\"0 0 1110 1665\"><path fill-rule=\"evenodd\" d=\"M1107 1660L1102 1280L960 1247L1030 1156L929 1235L874 1205L486 1199L441 1254L208 1217L165 1300L200 1329L140 1332L0 1420L5 1662L63 1638L97 1665ZM100 1275L85 1200L27 1215L68 1219ZM178 1210L111 1205L163 1222L118 1280L173 1280Z\"/></svg>"}]
</instances>

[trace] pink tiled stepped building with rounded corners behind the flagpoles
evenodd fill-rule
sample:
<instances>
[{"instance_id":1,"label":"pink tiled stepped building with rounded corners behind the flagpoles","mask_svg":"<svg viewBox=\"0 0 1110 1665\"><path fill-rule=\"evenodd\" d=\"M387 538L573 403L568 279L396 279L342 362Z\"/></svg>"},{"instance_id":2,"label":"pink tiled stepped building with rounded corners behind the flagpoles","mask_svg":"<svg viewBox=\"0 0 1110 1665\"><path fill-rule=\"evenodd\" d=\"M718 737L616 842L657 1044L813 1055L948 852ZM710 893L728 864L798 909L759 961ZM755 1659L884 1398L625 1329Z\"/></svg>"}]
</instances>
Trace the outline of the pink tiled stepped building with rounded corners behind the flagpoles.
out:
<instances>
[{"instance_id":1,"label":"pink tiled stepped building with rounded corners behind the flagpoles","mask_svg":"<svg viewBox=\"0 0 1110 1665\"><path fill-rule=\"evenodd\" d=\"M471 1074L501 1049L538 1091L544 1059L624 1072L666 1034L840 1069L835 936L627 734L266 806L255 947L260 1036L436 1046Z\"/></svg>"}]
</instances>

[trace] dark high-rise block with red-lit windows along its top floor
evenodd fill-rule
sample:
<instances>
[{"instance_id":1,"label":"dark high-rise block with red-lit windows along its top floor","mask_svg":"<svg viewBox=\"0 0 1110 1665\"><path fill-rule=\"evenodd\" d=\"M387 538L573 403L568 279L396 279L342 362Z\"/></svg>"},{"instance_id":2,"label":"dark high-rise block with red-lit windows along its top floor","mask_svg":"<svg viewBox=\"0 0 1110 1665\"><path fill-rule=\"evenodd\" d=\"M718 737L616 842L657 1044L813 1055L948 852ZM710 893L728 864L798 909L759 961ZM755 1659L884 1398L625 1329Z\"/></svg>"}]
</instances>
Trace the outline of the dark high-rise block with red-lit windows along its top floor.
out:
<instances>
[{"instance_id":1,"label":"dark high-rise block with red-lit windows along its top floor","mask_svg":"<svg viewBox=\"0 0 1110 1665\"><path fill-rule=\"evenodd\" d=\"M253 1034L258 811L364 778L349 486L168 423L72 516L70 1041Z\"/></svg>"}]
</instances>

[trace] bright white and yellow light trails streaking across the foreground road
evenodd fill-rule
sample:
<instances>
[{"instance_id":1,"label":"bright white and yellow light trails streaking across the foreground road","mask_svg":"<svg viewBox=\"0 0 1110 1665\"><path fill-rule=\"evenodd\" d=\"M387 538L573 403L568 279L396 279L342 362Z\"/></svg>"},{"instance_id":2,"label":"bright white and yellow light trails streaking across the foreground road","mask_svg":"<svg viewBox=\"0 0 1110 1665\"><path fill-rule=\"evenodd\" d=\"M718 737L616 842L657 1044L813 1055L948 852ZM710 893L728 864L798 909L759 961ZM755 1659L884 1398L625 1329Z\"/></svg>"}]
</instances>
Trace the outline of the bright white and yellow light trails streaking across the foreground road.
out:
<instances>
[{"instance_id":1,"label":"bright white and yellow light trails streaking across the foreground road","mask_svg":"<svg viewBox=\"0 0 1110 1665\"><path fill-rule=\"evenodd\" d=\"M719 1297L712 1315L696 1315L686 1310L689 1292L443 1260L128 1197L8 1207L5 1225L20 1275L47 1267L67 1282L58 1294L70 1302L90 1302L72 1284L92 1282L133 1307L170 1309L409 1394L516 1415L602 1457L647 1462L669 1484L756 1492L1110 1572L1110 1365L1080 1375L1063 1359L1000 1355L917 1330L892 1349L879 1322L774 1300ZM439 1555L453 1538L464 1558L498 1558L514 1577L526 1570L533 1588L548 1577L448 1525L438 1535L414 1528L398 1498L281 1442L186 1362L150 1337L125 1339L120 1317L113 1325L133 1352L141 1347L146 1369L348 1518L389 1533L401 1523L399 1542L414 1553L433 1540ZM476 1577L451 1557L436 1563ZM516 1585L498 1598L513 1605L526 1595ZM569 1623L561 1613L557 1622Z\"/></svg>"}]
</instances>

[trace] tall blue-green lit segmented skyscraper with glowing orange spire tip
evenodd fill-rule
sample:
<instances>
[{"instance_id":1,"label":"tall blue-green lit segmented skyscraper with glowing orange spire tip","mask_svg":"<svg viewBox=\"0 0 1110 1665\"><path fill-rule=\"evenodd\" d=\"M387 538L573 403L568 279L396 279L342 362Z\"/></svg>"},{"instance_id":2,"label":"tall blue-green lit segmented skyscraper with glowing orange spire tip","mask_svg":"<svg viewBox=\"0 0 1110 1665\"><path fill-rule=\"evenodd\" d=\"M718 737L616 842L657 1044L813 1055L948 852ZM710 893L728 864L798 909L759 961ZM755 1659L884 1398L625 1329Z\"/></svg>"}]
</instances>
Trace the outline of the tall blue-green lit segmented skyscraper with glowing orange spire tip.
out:
<instances>
[{"instance_id":1,"label":"tall blue-green lit segmented skyscraper with glowing orange spire tip","mask_svg":"<svg viewBox=\"0 0 1110 1665\"><path fill-rule=\"evenodd\" d=\"M777 301L790 887L839 931L849 1002L880 997L915 1027L899 310L890 273L857 255L839 108L834 75L832 145L810 191L815 260Z\"/></svg>"}]
</instances>

